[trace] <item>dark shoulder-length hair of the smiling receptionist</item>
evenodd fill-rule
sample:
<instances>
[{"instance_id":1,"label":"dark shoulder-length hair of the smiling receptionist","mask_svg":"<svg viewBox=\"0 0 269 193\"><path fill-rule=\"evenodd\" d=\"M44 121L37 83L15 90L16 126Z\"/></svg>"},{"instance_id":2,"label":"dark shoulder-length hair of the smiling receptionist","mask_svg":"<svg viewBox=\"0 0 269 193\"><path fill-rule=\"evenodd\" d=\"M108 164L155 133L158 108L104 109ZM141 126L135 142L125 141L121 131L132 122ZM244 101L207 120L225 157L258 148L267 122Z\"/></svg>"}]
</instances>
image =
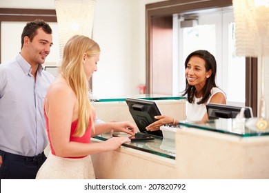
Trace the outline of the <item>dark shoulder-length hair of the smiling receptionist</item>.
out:
<instances>
[{"instance_id":1,"label":"dark shoulder-length hair of the smiling receptionist","mask_svg":"<svg viewBox=\"0 0 269 193\"><path fill-rule=\"evenodd\" d=\"M207 50L196 50L195 52L192 52L188 55L185 61L185 69L187 68L188 61L191 57L197 56L201 59L204 59L206 61L206 72L208 72L210 69L212 70L211 76L206 80L206 85L204 85L203 89L201 90L202 99L197 104L203 104L208 101L211 93L211 89L213 87L217 87L215 83L215 77L217 73L217 62L215 57L210 54ZM186 88L183 91L183 96L187 94L187 99L189 103L192 103L194 101L196 88L194 85L189 85L188 81L186 79Z\"/></svg>"}]
</instances>

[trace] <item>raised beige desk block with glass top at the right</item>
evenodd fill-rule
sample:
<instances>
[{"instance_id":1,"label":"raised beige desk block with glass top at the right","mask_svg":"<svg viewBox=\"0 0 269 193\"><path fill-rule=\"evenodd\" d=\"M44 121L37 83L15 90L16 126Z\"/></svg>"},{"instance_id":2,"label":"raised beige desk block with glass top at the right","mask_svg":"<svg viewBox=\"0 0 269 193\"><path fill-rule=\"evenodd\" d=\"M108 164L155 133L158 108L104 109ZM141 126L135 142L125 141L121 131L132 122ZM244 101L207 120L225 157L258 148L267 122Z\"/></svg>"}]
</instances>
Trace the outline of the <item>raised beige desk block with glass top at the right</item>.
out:
<instances>
[{"instance_id":1,"label":"raised beige desk block with glass top at the right","mask_svg":"<svg viewBox=\"0 0 269 193\"><path fill-rule=\"evenodd\" d=\"M269 179L269 130L253 119L181 122L177 132L179 179Z\"/></svg>"}]
</instances>

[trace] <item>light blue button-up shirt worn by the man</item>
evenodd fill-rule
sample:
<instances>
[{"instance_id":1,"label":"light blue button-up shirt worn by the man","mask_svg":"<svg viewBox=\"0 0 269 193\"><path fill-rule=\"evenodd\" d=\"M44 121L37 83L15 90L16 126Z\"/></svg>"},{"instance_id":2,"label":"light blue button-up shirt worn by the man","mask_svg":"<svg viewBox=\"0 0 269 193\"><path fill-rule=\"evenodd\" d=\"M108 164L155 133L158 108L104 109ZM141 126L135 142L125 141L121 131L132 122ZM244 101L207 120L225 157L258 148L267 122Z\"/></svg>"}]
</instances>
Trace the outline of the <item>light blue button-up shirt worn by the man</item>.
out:
<instances>
[{"instance_id":1,"label":"light blue button-up shirt worn by the man","mask_svg":"<svg viewBox=\"0 0 269 193\"><path fill-rule=\"evenodd\" d=\"M30 64L18 54L0 65L0 150L37 155L48 145L43 100L54 77L39 65L36 81Z\"/></svg>"}]
</instances>

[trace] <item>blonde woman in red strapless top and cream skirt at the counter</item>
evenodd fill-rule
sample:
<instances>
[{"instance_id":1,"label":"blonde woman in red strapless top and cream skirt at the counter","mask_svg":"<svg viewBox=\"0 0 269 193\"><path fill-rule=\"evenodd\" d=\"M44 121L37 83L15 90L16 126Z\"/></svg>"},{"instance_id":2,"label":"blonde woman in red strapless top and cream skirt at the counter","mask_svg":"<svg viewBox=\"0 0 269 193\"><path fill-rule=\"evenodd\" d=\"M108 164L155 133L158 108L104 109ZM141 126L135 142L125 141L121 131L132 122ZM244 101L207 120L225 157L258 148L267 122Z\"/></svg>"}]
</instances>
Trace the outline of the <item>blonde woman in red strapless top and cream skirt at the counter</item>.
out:
<instances>
[{"instance_id":1,"label":"blonde woman in red strapless top and cream skirt at the counter","mask_svg":"<svg viewBox=\"0 0 269 193\"><path fill-rule=\"evenodd\" d=\"M90 138L110 130L128 134L137 130L130 122L94 125L88 80L97 71L99 54L99 45L81 35L72 37L63 49L61 74L50 85L44 102L51 152L37 179L95 179L90 154L115 150L130 139L90 143Z\"/></svg>"}]
</instances>

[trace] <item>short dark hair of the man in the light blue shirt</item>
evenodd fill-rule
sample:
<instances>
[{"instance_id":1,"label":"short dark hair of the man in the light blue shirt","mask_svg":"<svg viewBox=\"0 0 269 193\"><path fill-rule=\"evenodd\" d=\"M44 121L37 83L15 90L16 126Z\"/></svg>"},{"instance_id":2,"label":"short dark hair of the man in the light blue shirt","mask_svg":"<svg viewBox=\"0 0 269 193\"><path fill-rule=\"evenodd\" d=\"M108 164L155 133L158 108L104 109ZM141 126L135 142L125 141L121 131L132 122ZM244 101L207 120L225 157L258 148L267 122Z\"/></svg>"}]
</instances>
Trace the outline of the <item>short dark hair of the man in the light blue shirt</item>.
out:
<instances>
[{"instance_id":1,"label":"short dark hair of the man in the light blue shirt","mask_svg":"<svg viewBox=\"0 0 269 193\"><path fill-rule=\"evenodd\" d=\"M44 32L47 34L52 34L52 29L42 19L36 19L34 21L28 22L26 26L23 28L23 32L21 34L21 48L23 48L24 37L29 37L30 41L37 35L37 29L42 28Z\"/></svg>"}]
</instances>

